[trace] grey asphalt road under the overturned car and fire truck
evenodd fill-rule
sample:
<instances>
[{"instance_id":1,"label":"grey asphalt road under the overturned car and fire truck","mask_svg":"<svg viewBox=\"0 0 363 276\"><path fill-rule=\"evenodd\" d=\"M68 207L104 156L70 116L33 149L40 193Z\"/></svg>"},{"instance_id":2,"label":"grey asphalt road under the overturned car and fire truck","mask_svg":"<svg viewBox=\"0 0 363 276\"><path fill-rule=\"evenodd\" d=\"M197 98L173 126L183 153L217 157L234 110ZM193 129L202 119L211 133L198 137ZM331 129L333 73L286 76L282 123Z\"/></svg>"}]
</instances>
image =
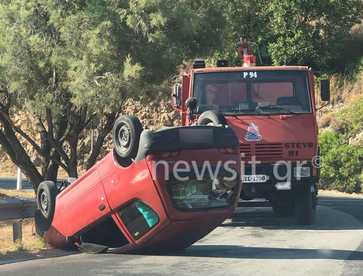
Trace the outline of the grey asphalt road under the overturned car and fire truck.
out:
<instances>
[{"instance_id":1,"label":"grey asphalt road under the overturned car and fire truck","mask_svg":"<svg viewBox=\"0 0 363 276\"><path fill-rule=\"evenodd\" d=\"M363 275L363 197L319 195L316 222L271 207L238 208L185 251L158 256L75 254L0 266L1 275Z\"/></svg>"}]
</instances>

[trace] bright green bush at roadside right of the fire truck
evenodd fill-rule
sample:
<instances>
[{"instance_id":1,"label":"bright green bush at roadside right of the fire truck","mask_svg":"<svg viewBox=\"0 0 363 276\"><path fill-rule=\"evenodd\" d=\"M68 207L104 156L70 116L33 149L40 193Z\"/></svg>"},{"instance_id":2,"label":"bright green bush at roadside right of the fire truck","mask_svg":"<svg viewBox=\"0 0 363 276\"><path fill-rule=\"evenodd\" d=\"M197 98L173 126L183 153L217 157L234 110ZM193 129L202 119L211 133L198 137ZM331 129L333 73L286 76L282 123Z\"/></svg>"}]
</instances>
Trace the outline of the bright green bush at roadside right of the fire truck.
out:
<instances>
[{"instance_id":1,"label":"bright green bush at roadside right of the fire truck","mask_svg":"<svg viewBox=\"0 0 363 276\"><path fill-rule=\"evenodd\" d=\"M348 145L342 134L331 131L319 134L319 146L323 165L318 187L346 193L361 192L363 148Z\"/></svg>"}]
</instances>

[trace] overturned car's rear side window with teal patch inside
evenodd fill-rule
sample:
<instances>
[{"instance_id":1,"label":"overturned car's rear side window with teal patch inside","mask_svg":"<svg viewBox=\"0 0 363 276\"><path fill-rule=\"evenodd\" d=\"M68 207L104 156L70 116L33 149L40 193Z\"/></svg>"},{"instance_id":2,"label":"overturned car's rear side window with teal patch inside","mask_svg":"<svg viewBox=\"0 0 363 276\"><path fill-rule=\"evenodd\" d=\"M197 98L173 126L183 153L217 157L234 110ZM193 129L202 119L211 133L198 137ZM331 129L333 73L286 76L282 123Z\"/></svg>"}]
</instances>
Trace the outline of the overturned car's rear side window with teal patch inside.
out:
<instances>
[{"instance_id":1,"label":"overturned car's rear side window with teal patch inside","mask_svg":"<svg viewBox=\"0 0 363 276\"><path fill-rule=\"evenodd\" d=\"M159 222L159 216L146 203L134 201L118 212L135 240L146 235Z\"/></svg>"}]
</instances>

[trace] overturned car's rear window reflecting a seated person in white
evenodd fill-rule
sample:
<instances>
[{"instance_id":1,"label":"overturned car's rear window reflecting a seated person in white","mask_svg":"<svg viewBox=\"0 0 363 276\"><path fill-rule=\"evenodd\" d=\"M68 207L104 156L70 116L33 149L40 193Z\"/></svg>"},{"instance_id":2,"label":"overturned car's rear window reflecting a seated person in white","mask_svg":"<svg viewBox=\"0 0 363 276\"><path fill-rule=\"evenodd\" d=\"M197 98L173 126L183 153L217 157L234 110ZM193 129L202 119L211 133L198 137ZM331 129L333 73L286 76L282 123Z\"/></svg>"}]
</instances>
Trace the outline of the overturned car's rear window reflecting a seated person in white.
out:
<instances>
[{"instance_id":1,"label":"overturned car's rear window reflecting a seated person in white","mask_svg":"<svg viewBox=\"0 0 363 276\"><path fill-rule=\"evenodd\" d=\"M237 171L232 168L211 168L212 175L203 167L193 168L188 172L170 173L167 188L171 202L177 210L224 208L236 202L240 182Z\"/></svg>"}]
</instances>

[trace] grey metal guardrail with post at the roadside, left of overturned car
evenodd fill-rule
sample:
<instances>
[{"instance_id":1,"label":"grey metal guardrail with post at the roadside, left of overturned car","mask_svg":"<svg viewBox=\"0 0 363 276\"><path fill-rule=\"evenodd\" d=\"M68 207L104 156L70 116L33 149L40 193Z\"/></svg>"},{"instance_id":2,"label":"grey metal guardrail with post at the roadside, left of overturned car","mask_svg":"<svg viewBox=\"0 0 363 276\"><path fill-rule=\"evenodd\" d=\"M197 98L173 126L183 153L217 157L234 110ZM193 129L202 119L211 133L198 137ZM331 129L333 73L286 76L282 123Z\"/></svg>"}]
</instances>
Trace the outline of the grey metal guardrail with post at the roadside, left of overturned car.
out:
<instances>
[{"instance_id":1,"label":"grey metal guardrail with post at the roadside, left of overturned car","mask_svg":"<svg viewBox=\"0 0 363 276\"><path fill-rule=\"evenodd\" d=\"M0 224L13 224L13 240L22 240L21 223L34 221L36 199L11 198L0 200Z\"/></svg>"}]
</instances>

